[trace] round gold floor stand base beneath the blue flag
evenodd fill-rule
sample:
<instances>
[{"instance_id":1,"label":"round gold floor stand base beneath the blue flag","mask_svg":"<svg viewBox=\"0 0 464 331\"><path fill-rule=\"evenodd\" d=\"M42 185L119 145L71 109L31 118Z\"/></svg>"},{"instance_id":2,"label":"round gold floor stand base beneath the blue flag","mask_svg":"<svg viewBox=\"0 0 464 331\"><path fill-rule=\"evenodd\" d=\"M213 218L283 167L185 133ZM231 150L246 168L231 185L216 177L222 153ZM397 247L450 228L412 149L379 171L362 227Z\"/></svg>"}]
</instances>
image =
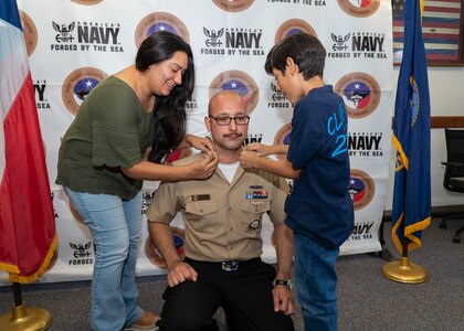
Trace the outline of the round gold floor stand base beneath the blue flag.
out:
<instances>
[{"instance_id":1,"label":"round gold floor stand base beneath the blue flag","mask_svg":"<svg viewBox=\"0 0 464 331\"><path fill-rule=\"evenodd\" d=\"M423 282L429 278L426 270L410 263L409 257L400 257L399 261L388 263L383 266L382 274L391 280L409 284Z\"/></svg>"}]
</instances>

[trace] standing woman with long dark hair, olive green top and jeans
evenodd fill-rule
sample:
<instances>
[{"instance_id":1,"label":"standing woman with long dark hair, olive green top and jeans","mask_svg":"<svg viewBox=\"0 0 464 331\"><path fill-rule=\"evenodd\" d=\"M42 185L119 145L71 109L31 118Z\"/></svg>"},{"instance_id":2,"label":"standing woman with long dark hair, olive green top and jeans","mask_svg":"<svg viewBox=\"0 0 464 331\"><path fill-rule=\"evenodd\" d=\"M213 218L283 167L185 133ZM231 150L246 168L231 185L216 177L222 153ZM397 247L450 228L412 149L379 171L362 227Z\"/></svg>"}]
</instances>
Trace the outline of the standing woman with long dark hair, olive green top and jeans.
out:
<instances>
[{"instance_id":1,"label":"standing woman with long dark hair, olive green top and jeans","mask_svg":"<svg viewBox=\"0 0 464 331\"><path fill-rule=\"evenodd\" d=\"M158 317L136 303L140 190L143 180L205 179L215 169L211 142L186 135L193 82L190 46L176 34L156 32L141 43L135 65L86 97L63 137L56 183L95 241L89 316L95 331L157 330ZM169 151L187 147L208 157L184 167L160 164Z\"/></svg>"}]
</instances>

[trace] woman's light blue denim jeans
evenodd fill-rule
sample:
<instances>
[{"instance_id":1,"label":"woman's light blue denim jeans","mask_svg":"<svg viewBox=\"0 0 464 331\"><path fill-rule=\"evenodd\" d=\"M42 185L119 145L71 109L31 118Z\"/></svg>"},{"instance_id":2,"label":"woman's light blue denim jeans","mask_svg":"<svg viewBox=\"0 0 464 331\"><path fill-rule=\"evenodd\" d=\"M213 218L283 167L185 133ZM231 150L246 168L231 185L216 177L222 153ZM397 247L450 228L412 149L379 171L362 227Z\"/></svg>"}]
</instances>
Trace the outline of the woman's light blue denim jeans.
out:
<instances>
[{"instance_id":1,"label":"woman's light blue denim jeans","mask_svg":"<svg viewBox=\"0 0 464 331\"><path fill-rule=\"evenodd\" d=\"M91 327L95 331L122 330L143 313L136 305L135 281L141 192L122 200L117 195L74 192L66 186L64 191L94 237Z\"/></svg>"}]
</instances>

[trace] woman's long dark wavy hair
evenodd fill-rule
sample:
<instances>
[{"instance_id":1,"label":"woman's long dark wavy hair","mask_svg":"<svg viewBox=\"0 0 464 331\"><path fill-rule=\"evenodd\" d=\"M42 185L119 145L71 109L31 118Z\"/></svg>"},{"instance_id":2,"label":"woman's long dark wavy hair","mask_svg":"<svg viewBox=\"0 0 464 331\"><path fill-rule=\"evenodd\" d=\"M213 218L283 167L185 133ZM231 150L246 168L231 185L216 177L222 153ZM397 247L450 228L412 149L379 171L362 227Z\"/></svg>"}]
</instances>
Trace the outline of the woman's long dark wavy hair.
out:
<instances>
[{"instance_id":1,"label":"woman's long dark wavy hair","mask_svg":"<svg viewBox=\"0 0 464 331\"><path fill-rule=\"evenodd\" d=\"M194 85L193 54L190 45L177 34L158 31L141 43L136 56L136 68L145 72L150 65L169 60L179 51L187 53L188 65L180 85L168 96L156 96L155 135L149 157L151 162L160 163L180 145L186 135L186 103Z\"/></svg>"}]
</instances>

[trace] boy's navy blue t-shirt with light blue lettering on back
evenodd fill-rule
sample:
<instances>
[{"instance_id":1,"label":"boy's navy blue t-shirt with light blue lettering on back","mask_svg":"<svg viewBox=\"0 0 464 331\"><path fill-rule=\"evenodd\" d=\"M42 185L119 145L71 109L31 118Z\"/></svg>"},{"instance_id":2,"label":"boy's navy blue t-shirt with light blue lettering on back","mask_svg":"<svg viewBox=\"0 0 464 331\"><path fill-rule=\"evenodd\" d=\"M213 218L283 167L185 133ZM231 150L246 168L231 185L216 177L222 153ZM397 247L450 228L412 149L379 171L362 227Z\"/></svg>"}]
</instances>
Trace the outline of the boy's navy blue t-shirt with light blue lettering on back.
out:
<instances>
[{"instance_id":1,"label":"boy's navy blue t-shirt with light blue lettering on back","mask_svg":"<svg viewBox=\"0 0 464 331\"><path fill-rule=\"evenodd\" d=\"M344 100L330 85L312 89L295 108L287 159L302 169L285 203L285 223L325 248L351 234L354 205Z\"/></svg>"}]
</instances>

